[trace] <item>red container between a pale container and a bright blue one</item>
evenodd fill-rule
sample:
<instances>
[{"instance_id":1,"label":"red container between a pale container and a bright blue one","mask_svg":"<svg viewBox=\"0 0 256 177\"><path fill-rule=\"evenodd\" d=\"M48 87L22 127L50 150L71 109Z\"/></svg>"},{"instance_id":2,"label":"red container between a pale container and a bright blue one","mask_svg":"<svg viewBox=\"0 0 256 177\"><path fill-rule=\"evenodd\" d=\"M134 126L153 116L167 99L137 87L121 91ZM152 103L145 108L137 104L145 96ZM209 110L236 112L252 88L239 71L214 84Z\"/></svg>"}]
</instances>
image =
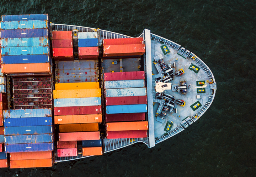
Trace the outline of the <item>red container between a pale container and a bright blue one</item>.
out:
<instances>
[{"instance_id":1,"label":"red container between a pale container and a bright blue one","mask_svg":"<svg viewBox=\"0 0 256 177\"><path fill-rule=\"evenodd\" d=\"M106 105L147 104L147 96L106 97Z\"/></svg>"}]
</instances>

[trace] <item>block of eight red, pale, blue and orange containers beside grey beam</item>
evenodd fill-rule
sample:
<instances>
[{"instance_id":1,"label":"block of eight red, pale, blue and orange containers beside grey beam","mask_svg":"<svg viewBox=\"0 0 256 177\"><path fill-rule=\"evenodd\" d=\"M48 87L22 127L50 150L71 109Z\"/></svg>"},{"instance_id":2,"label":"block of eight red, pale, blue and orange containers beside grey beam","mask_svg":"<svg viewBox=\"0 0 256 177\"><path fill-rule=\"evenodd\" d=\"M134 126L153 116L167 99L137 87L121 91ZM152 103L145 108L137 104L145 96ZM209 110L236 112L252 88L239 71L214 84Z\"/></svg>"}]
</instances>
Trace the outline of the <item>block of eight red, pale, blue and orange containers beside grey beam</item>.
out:
<instances>
[{"instance_id":1,"label":"block of eight red, pale, blue and orange containers beside grey beam","mask_svg":"<svg viewBox=\"0 0 256 177\"><path fill-rule=\"evenodd\" d=\"M147 96L144 71L105 73L106 137L147 137Z\"/></svg>"}]
</instances>

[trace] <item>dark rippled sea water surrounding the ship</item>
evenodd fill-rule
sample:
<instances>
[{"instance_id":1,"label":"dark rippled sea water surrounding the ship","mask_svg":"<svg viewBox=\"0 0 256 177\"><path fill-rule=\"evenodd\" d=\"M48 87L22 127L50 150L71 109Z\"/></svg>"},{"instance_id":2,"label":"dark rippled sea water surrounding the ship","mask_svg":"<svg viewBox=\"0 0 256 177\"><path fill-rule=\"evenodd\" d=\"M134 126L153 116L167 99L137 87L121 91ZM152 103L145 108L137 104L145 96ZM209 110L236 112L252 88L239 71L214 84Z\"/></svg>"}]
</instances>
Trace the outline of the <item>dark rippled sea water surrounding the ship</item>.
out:
<instances>
[{"instance_id":1,"label":"dark rippled sea water surrounding the ship","mask_svg":"<svg viewBox=\"0 0 256 177\"><path fill-rule=\"evenodd\" d=\"M129 36L145 28L195 53L217 81L201 119L154 148L145 144L0 177L255 177L255 0L1 0L0 15L48 13L50 22Z\"/></svg>"}]
</instances>

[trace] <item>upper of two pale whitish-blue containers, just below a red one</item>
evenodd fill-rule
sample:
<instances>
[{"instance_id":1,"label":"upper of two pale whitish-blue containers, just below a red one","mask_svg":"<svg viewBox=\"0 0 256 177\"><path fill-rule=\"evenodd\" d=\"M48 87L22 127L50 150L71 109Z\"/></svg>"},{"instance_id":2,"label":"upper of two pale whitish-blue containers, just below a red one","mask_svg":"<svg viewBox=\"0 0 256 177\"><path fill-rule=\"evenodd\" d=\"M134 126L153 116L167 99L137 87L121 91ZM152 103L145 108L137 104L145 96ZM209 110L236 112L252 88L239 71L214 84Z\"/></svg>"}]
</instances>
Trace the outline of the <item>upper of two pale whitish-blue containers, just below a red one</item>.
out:
<instances>
[{"instance_id":1,"label":"upper of two pale whitish-blue containers, just below a red one","mask_svg":"<svg viewBox=\"0 0 256 177\"><path fill-rule=\"evenodd\" d=\"M145 81L139 80L111 80L104 82L105 89L123 89L123 88L138 88L144 87Z\"/></svg>"}]
</instances>

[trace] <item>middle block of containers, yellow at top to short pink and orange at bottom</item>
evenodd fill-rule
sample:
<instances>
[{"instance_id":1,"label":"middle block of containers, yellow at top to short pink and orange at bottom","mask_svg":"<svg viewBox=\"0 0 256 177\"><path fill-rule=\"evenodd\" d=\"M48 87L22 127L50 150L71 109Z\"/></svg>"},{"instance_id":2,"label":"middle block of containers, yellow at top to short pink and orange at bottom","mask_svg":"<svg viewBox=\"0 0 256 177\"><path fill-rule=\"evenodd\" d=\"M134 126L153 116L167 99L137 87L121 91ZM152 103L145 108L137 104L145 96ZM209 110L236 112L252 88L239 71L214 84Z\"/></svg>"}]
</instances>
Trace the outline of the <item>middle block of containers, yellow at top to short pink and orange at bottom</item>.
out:
<instances>
[{"instance_id":1,"label":"middle block of containers, yellow at top to short pink and orange at bottom","mask_svg":"<svg viewBox=\"0 0 256 177\"><path fill-rule=\"evenodd\" d=\"M102 122L99 82L55 84L54 123L59 124L58 156L77 156L77 141L100 140ZM86 148L86 147L84 147ZM102 148L83 148L83 155L102 155Z\"/></svg>"}]
</instances>

